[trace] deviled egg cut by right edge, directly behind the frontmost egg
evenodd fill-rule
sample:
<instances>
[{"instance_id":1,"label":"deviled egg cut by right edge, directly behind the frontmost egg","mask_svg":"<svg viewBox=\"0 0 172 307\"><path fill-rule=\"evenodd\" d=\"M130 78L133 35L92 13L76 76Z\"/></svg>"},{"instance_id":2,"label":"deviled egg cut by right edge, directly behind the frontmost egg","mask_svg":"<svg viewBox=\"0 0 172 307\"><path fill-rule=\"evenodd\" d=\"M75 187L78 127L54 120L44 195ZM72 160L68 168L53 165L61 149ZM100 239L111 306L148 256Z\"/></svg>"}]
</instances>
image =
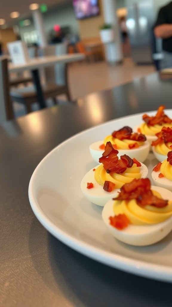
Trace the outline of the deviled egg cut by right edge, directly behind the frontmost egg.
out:
<instances>
[{"instance_id":1,"label":"deviled egg cut by right edge, directly behind the frontmost egg","mask_svg":"<svg viewBox=\"0 0 172 307\"><path fill-rule=\"evenodd\" d=\"M172 191L172 150L167 153L167 159L153 168L151 176L155 185Z\"/></svg>"}]
</instances>

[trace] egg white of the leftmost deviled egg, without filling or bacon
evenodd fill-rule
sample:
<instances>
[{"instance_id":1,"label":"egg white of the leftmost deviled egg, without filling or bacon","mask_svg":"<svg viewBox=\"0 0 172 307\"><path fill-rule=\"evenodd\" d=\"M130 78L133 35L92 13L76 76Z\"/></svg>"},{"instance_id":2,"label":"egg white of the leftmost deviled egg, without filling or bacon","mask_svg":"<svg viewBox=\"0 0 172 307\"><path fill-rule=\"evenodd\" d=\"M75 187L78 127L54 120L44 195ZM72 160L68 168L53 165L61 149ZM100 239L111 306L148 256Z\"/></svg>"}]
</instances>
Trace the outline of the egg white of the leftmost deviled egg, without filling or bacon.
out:
<instances>
[{"instance_id":1,"label":"egg white of the leftmost deviled egg, without filling or bacon","mask_svg":"<svg viewBox=\"0 0 172 307\"><path fill-rule=\"evenodd\" d=\"M99 164L100 165L100 164ZM95 169L99 166L95 166ZM141 172L141 178L146 178L148 176L148 168L146 165L141 163L140 166L140 172ZM94 185L94 188L88 189L87 188L87 182L92 182ZM84 196L91 201L93 204L96 204L98 206L104 206L107 201L113 197L116 197L118 195L118 191L120 189L114 189L112 192L106 192L103 190L103 186L99 185L97 181L95 181L94 178L94 171L91 169L82 179L81 181L81 190L84 194Z\"/></svg>"}]
</instances>

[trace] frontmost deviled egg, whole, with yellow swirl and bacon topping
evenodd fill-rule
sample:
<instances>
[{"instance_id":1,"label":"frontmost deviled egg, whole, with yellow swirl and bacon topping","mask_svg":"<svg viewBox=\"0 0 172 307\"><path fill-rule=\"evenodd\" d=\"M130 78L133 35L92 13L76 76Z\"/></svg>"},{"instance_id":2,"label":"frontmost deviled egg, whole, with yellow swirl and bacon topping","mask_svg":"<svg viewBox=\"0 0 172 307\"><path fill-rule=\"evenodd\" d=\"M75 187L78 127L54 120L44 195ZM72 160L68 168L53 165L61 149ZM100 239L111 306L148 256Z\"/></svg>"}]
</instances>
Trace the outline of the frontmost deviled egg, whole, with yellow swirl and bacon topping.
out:
<instances>
[{"instance_id":1,"label":"frontmost deviled egg, whole, with yellow swirl and bacon topping","mask_svg":"<svg viewBox=\"0 0 172 307\"><path fill-rule=\"evenodd\" d=\"M149 181L150 185L148 178L143 180ZM133 182L132 191L128 186ZM133 182L122 187L123 197L119 193L117 199L105 204L102 218L116 239L135 246L151 245L162 240L172 230L172 192L155 186L145 191L145 188L141 189L136 184L135 179ZM125 187L129 198L124 192Z\"/></svg>"}]
</instances>

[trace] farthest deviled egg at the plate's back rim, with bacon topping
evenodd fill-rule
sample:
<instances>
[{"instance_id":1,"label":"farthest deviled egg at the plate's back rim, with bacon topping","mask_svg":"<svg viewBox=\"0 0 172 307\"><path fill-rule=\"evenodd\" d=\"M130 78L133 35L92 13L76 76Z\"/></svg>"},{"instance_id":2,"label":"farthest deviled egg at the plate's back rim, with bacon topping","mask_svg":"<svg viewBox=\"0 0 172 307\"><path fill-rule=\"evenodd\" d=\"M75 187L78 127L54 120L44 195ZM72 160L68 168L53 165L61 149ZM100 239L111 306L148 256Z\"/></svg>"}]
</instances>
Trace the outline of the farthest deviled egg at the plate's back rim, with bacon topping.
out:
<instances>
[{"instance_id":1,"label":"farthest deviled egg at the plate's back rim, with bacon topping","mask_svg":"<svg viewBox=\"0 0 172 307\"><path fill-rule=\"evenodd\" d=\"M164 113L164 109L165 106L160 106L155 116L144 114L144 123L134 128L135 131L145 134L150 145L156 140L156 133L160 132L163 126L172 127L172 119Z\"/></svg>"}]
</instances>

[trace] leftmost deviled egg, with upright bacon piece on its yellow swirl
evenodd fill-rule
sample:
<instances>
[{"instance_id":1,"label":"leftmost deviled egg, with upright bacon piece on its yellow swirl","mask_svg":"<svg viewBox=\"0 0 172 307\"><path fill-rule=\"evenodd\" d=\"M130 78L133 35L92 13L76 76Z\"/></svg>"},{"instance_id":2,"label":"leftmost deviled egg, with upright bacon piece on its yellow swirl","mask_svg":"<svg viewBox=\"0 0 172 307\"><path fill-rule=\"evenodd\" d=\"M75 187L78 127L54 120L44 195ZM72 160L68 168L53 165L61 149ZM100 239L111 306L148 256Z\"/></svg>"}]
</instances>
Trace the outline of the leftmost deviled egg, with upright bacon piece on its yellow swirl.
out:
<instances>
[{"instance_id":1,"label":"leftmost deviled egg, with upright bacon piece on its yellow swirl","mask_svg":"<svg viewBox=\"0 0 172 307\"><path fill-rule=\"evenodd\" d=\"M148 175L146 165L127 155L119 159L117 154L118 150L107 142L100 158L102 163L91 169L81 181L84 196L94 204L104 206L109 199L118 194L122 185L134 178L145 178Z\"/></svg>"}]
</instances>

